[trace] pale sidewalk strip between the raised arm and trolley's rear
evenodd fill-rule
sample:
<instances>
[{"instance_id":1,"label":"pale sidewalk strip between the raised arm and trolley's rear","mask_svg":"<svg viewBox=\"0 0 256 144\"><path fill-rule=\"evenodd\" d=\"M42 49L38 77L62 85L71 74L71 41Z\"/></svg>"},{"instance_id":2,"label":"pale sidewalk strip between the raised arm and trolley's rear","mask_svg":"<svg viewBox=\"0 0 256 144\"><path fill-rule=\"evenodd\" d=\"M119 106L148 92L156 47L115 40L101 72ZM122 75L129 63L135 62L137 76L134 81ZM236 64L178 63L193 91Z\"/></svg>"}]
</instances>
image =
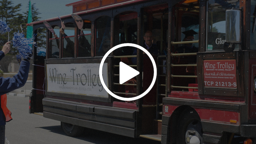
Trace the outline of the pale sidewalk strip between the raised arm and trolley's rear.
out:
<instances>
[{"instance_id":1,"label":"pale sidewalk strip between the raised arm and trolley's rear","mask_svg":"<svg viewBox=\"0 0 256 144\"><path fill-rule=\"evenodd\" d=\"M32 90L32 80L27 80L26 84L12 92L7 93L7 95L12 95L12 96L20 96L20 97L29 97L30 93Z\"/></svg>"}]
</instances>

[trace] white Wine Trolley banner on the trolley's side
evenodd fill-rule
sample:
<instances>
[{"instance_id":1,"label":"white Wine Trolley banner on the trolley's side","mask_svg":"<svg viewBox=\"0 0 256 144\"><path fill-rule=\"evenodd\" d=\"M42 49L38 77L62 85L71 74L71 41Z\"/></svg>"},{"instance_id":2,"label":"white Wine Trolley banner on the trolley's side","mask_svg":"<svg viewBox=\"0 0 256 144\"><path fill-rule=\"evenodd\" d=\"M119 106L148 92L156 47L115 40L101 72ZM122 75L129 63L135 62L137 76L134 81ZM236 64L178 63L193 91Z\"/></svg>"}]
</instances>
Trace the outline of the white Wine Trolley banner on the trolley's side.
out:
<instances>
[{"instance_id":1,"label":"white Wine Trolley banner on the trolley's side","mask_svg":"<svg viewBox=\"0 0 256 144\"><path fill-rule=\"evenodd\" d=\"M108 98L99 77L99 63L47 64L47 92ZM104 63L103 79L108 85L108 67Z\"/></svg>"}]
</instances>

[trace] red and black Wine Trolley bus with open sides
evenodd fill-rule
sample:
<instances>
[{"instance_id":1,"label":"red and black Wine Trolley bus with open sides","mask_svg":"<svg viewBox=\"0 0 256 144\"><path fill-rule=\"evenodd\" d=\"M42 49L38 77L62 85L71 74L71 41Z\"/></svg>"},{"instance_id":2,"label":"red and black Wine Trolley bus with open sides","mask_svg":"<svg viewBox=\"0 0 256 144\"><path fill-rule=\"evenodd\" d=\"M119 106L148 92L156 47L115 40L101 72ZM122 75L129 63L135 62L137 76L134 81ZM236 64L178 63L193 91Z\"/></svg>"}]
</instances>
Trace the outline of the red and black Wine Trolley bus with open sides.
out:
<instances>
[{"instance_id":1,"label":"red and black Wine Trolley bus with open sides","mask_svg":"<svg viewBox=\"0 0 256 144\"><path fill-rule=\"evenodd\" d=\"M33 51L30 113L60 121L69 136L91 128L163 144L255 143L254 0L83 0L67 6L81 20L61 16L62 32L58 17L28 24L37 36L46 35L46 48ZM143 45L148 30L158 48L156 83L139 100L115 99L100 82L100 61L115 45ZM152 80L148 57L134 49L115 50L103 65L105 84L121 97L141 94ZM140 74L119 84L120 61Z\"/></svg>"}]
</instances>

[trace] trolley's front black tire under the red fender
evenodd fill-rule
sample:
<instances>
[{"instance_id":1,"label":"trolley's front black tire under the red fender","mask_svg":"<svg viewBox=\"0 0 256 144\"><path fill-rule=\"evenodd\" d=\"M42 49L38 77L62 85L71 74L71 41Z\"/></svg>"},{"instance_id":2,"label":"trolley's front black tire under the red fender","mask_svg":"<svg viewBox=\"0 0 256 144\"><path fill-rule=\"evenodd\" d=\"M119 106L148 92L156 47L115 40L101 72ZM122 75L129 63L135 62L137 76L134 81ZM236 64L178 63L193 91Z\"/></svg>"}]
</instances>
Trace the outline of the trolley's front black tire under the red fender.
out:
<instances>
[{"instance_id":1,"label":"trolley's front black tire under the red fender","mask_svg":"<svg viewBox=\"0 0 256 144\"><path fill-rule=\"evenodd\" d=\"M177 144L188 144L192 136L196 136L200 140L200 144L203 143L203 128L200 117L195 110L185 109L181 113L177 124Z\"/></svg>"}]
</instances>

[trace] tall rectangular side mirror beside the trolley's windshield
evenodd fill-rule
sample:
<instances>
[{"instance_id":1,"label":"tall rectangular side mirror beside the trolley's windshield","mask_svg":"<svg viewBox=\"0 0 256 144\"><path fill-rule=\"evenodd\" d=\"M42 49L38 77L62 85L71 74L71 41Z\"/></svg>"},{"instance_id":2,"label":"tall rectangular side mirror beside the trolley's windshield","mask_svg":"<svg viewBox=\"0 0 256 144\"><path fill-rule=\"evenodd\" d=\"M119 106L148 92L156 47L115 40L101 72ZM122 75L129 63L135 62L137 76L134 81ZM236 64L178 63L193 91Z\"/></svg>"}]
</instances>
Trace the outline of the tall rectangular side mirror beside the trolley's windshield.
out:
<instances>
[{"instance_id":1,"label":"tall rectangular side mirror beside the trolley's windshield","mask_svg":"<svg viewBox=\"0 0 256 144\"><path fill-rule=\"evenodd\" d=\"M226 42L240 43L241 41L241 11L226 10Z\"/></svg>"}]
</instances>

